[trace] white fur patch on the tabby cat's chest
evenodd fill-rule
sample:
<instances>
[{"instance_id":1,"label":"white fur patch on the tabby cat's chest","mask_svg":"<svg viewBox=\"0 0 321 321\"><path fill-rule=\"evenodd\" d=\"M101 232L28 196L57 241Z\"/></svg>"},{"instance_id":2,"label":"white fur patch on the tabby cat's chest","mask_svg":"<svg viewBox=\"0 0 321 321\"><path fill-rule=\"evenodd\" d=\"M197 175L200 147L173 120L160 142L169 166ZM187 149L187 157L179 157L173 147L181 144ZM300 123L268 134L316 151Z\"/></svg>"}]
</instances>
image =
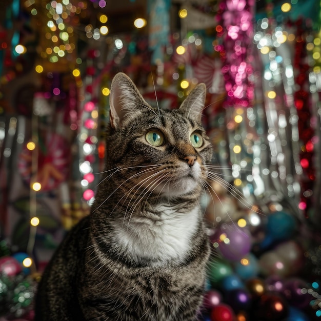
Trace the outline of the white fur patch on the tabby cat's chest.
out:
<instances>
[{"instance_id":1,"label":"white fur patch on the tabby cat's chest","mask_svg":"<svg viewBox=\"0 0 321 321\"><path fill-rule=\"evenodd\" d=\"M138 262L152 260L154 265L175 260L183 262L197 228L199 209L178 212L167 205L156 208L159 215L145 213L131 217L116 227L116 242Z\"/></svg>"}]
</instances>

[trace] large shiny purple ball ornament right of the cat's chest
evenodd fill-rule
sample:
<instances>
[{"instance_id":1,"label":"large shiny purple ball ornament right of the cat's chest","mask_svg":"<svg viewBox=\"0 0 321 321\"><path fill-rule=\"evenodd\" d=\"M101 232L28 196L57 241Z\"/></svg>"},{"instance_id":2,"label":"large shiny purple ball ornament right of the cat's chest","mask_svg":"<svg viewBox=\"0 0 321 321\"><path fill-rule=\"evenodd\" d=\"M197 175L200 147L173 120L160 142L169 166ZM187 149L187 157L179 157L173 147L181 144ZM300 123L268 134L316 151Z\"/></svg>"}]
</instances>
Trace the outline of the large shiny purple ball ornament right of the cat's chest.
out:
<instances>
[{"instance_id":1,"label":"large shiny purple ball ornament right of the cat's chest","mask_svg":"<svg viewBox=\"0 0 321 321\"><path fill-rule=\"evenodd\" d=\"M250 233L233 224L223 224L211 237L213 243L218 244L222 255L232 261L239 260L247 255L252 246Z\"/></svg>"}]
</instances>

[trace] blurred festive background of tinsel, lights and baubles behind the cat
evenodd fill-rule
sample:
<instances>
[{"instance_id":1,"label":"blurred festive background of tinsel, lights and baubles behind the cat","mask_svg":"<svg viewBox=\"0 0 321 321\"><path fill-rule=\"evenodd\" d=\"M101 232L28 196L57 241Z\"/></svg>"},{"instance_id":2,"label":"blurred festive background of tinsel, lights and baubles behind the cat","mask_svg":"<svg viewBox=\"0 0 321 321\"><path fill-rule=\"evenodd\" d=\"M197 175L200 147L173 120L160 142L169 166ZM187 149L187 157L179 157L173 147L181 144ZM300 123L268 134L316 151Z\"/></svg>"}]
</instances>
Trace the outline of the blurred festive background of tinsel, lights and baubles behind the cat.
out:
<instances>
[{"instance_id":1,"label":"blurred festive background of tinsel, lights and baubles behind the cat","mask_svg":"<svg viewBox=\"0 0 321 321\"><path fill-rule=\"evenodd\" d=\"M113 75L177 107L207 86L219 168L200 320L321 320L317 0L2 0L0 320L32 320L41 273L88 215Z\"/></svg>"}]
</instances>

